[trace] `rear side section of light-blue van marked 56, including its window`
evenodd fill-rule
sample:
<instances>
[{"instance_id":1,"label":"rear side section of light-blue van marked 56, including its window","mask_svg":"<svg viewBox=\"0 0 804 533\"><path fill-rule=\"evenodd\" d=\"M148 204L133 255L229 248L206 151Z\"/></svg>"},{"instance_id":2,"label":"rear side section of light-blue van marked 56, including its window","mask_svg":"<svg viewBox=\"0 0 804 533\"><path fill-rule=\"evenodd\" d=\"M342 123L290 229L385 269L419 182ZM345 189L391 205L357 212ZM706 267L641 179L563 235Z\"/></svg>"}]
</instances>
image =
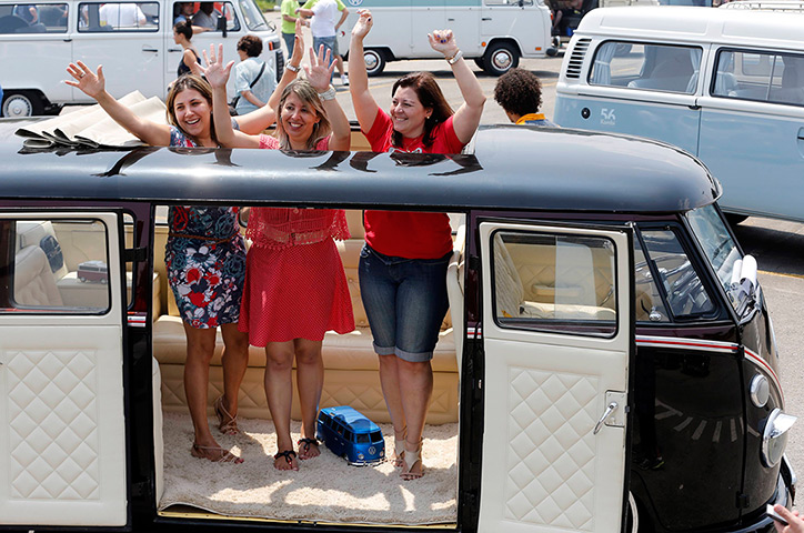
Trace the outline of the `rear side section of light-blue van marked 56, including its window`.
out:
<instances>
[{"instance_id":1,"label":"rear side section of light-blue van marked 56, including its window","mask_svg":"<svg viewBox=\"0 0 804 533\"><path fill-rule=\"evenodd\" d=\"M562 64L556 123L656 139L697 153L703 47L606 40L590 58L583 52L589 39L573 37L573 43L574 61L565 57Z\"/></svg>"}]
</instances>

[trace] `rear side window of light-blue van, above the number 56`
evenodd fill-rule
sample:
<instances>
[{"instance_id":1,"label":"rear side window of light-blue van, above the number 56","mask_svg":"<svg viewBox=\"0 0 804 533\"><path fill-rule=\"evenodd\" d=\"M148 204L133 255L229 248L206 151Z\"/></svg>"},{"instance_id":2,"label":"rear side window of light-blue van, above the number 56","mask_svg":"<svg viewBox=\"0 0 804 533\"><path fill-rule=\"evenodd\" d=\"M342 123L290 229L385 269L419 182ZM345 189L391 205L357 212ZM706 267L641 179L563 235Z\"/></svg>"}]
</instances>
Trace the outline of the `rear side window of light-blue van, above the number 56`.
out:
<instances>
[{"instance_id":1,"label":"rear side window of light-blue van, above the number 56","mask_svg":"<svg viewBox=\"0 0 804 533\"><path fill-rule=\"evenodd\" d=\"M693 94L702 56L695 47L607 41L595 51L589 83Z\"/></svg>"}]
</instances>

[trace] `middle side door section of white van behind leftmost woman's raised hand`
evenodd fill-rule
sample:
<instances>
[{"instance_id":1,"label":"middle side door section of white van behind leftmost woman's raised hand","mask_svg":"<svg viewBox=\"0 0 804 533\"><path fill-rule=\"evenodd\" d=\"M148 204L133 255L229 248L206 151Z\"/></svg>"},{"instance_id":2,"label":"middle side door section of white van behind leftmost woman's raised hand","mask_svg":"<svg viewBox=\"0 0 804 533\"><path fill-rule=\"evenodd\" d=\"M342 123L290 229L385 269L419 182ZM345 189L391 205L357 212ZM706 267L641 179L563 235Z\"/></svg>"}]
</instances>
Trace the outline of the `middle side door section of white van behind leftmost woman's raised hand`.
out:
<instances>
[{"instance_id":1,"label":"middle side door section of white van behind leftmost woman's raised hand","mask_svg":"<svg viewBox=\"0 0 804 533\"><path fill-rule=\"evenodd\" d=\"M121 98L134 89L145 98L164 98L164 40L168 21L159 17L160 4L143 2L79 2L73 61L92 70L103 66L105 89ZM76 98L87 99L80 91Z\"/></svg>"}]
</instances>

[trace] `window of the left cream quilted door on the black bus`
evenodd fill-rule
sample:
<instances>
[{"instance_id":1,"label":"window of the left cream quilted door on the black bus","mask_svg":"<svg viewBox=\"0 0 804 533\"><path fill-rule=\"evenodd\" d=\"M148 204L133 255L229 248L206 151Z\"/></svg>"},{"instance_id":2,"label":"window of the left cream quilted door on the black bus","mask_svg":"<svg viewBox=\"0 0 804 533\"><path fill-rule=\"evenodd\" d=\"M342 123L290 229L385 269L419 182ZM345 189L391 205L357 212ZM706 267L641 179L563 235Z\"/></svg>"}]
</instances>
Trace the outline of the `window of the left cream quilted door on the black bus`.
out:
<instances>
[{"instance_id":1,"label":"window of the left cream quilted door on the black bus","mask_svg":"<svg viewBox=\"0 0 804 533\"><path fill-rule=\"evenodd\" d=\"M102 314L109 310L107 229L98 220L0 220L12 251L0 269L0 313Z\"/></svg>"}]
</instances>

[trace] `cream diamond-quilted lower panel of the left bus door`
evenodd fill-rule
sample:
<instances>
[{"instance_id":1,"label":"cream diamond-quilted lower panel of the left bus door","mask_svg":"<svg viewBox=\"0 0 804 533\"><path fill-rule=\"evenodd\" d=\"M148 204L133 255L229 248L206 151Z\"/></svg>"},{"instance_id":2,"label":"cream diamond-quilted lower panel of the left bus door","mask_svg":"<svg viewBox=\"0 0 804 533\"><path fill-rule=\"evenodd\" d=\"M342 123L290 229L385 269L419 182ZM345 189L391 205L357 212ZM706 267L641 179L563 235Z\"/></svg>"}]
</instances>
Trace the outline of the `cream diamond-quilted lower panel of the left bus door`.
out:
<instances>
[{"instance_id":1,"label":"cream diamond-quilted lower panel of the left bus door","mask_svg":"<svg viewBox=\"0 0 804 533\"><path fill-rule=\"evenodd\" d=\"M121 325L3 329L0 523L125 524L121 344Z\"/></svg>"}]
</instances>

